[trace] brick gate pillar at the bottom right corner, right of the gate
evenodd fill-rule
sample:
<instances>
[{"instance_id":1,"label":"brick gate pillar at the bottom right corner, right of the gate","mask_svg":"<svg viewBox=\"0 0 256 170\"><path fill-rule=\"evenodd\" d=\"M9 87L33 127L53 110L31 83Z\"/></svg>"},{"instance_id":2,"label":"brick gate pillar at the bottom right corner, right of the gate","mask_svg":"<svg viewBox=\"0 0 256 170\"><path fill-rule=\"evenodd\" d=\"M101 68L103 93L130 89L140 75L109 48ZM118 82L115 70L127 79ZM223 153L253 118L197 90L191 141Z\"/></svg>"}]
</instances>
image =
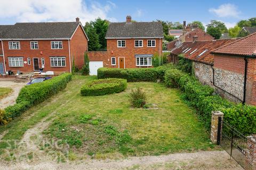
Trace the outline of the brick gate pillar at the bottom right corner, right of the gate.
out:
<instances>
[{"instance_id":1,"label":"brick gate pillar at the bottom right corner, right of the gate","mask_svg":"<svg viewBox=\"0 0 256 170\"><path fill-rule=\"evenodd\" d=\"M247 150L244 169L256 170L256 134L247 138Z\"/></svg>"}]
</instances>

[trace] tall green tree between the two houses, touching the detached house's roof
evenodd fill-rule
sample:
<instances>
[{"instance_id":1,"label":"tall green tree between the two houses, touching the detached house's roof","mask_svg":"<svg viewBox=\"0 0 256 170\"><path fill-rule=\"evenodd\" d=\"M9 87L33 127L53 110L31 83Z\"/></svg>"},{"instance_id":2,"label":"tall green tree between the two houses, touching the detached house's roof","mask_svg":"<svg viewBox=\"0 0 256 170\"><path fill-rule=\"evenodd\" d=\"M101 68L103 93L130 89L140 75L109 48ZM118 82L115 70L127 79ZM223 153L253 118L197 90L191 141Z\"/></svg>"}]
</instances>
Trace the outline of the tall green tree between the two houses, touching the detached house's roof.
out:
<instances>
[{"instance_id":1,"label":"tall green tree between the two houses, touching the detached house's roof","mask_svg":"<svg viewBox=\"0 0 256 170\"><path fill-rule=\"evenodd\" d=\"M105 49L107 47L107 40L105 39L105 36L108 30L109 21L97 18L95 21L91 21L91 24L99 36L101 48Z\"/></svg>"}]
</instances>

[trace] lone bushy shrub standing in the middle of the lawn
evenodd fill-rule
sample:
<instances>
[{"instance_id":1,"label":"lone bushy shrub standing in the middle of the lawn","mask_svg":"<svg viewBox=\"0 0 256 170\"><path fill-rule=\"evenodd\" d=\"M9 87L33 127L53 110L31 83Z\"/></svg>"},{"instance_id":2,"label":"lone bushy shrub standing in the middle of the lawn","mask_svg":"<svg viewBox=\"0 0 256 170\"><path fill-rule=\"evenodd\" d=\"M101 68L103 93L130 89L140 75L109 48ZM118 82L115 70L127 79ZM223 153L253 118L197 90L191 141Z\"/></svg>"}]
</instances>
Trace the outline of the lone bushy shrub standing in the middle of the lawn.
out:
<instances>
[{"instance_id":1,"label":"lone bushy shrub standing in the middle of the lawn","mask_svg":"<svg viewBox=\"0 0 256 170\"><path fill-rule=\"evenodd\" d=\"M146 104L146 93L141 88L131 91L130 101L133 107L143 107Z\"/></svg>"}]
</instances>

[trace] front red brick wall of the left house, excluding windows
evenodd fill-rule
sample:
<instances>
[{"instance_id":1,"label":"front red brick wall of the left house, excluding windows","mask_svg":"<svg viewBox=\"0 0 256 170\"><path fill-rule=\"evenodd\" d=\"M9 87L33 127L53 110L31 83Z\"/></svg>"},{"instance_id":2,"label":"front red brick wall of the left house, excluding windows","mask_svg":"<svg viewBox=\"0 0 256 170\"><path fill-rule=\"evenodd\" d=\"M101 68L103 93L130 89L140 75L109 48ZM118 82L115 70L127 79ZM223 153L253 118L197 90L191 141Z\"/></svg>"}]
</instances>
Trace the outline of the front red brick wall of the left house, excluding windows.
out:
<instances>
[{"instance_id":1,"label":"front red brick wall of the left house, excluding windows","mask_svg":"<svg viewBox=\"0 0 256 170\"><path fill-rule=\"evenodd\" d=\"M62 49L51 49L50 40L37 40L38 49L30 49L30 40L20 40L20 49L9 49L9 41L3 41L6 70L16 73L33 72L33 58L39 58L39 67L42 67L42 58L45 60L44 71L70 72L68 40L62 40ZM65 56L65 67L51 67L50 56ZM23 67L10 67L8 57L23 57L23 61L31 60L31 64L23 63Z\"/></svg>"}]
</instances>

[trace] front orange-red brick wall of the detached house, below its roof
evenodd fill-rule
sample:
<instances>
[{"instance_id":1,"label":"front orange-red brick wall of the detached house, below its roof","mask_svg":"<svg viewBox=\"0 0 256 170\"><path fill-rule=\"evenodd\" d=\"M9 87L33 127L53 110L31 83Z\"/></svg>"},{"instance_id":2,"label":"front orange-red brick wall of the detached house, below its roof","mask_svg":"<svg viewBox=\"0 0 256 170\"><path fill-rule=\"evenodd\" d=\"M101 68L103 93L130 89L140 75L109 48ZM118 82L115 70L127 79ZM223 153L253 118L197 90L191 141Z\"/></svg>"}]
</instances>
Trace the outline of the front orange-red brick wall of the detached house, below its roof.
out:
<instances>
[{"instance_id":1,"label":"front orange-red brick wall of the detached house, below its roof","mask_svg":"<svg viewBox=\"0 0 256 170\"><path fill-rule=\"evenodd\" d=\"M154 39L154 38L151 38ZM117 47L117 39L107 39L107 50L111 53L111 56L115 56L117 59L118 67L118 57L125 58L125 68L136 68L135 54L158 54L161 53L162 56L162 39L156 40L156 47L147 47L147 40L143 40L143 47L134 47L135 39L125 39L125 47ZM138 39L139 40L139 39Z\"/></svg>"}]
</instances>

